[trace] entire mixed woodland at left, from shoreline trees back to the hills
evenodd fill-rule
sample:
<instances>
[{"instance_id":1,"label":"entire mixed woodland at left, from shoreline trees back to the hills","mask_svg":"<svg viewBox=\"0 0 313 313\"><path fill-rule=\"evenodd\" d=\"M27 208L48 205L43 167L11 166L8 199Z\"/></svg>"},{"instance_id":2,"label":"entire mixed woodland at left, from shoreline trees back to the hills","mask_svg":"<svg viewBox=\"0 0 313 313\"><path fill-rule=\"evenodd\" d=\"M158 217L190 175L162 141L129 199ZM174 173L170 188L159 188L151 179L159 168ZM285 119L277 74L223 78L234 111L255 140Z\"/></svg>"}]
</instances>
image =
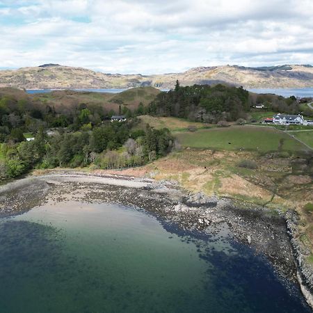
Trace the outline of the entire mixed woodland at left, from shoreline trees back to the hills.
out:
<instances>
[{"instance_id":1,"label":"entire mixed woodland at left, from shoreline trees back to the hills","mask_svg":"<svg viewBox=\"0 0 313 313\"><path fill-rule=\"evenodd\" d=\"M141 111L138 107L138 111ZM118 111L120 111L120 107ZM137 118L111 122L102 106L78 104L62 113L26 99L0 99L0 179L33 168L127 168L166 155L168 129L136 129ZM26 141L26 134L34 136Z\"/></svg>"}]
</instances>

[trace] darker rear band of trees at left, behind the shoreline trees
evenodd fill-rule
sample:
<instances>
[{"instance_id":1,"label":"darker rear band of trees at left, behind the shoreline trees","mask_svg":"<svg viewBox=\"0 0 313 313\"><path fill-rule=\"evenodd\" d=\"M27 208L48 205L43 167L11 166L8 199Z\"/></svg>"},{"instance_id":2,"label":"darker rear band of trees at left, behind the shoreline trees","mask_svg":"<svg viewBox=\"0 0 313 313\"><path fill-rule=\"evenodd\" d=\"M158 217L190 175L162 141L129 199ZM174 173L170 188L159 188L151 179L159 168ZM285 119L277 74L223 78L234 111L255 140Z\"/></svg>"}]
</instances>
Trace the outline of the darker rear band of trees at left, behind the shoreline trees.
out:
<instances>
[{"instance_id":1,"label":"darker rear band of trees at left, behind the shoreline trees","mask_svg":"<svg viewBox=\"0 0 313 313\"><path fill-rule=\"evenodd\" d=\"M0 142L19 142L23 133L37 133L40 128L91 130L112 113L106 112L102 106L84 103L56 110L54 106L31 98L16 99L12 95L3 95L0 96Z\"/></svg>"}]
</instances>

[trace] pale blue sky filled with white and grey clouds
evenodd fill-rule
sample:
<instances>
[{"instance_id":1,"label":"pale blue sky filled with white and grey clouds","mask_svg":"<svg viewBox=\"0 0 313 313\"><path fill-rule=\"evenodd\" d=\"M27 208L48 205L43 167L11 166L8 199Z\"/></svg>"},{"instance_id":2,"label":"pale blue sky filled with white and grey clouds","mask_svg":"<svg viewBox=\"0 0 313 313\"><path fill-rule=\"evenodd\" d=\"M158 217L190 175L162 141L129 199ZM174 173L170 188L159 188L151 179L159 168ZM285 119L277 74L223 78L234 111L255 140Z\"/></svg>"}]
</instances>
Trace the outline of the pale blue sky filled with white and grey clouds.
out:
<instances>
[{"instance_id":1,"label":"pale blue sky filled with white and grey clouds","mask_svg":"<svg viewBox=\"0 0 313 313\"><path fill-rule=\"evenodd\" d=\"M313 0L0 0L0 68L313 64Z\"/></svg>"}]
</instances>

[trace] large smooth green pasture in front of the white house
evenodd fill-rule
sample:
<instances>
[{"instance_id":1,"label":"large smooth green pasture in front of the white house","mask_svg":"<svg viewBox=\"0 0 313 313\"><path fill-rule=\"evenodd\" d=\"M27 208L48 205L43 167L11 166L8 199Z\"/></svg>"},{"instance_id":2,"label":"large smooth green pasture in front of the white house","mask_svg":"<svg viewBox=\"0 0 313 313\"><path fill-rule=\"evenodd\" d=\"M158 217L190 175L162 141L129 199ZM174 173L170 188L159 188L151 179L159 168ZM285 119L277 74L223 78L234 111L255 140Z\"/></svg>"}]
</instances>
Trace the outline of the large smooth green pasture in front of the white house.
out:
<instances>
[{"instance_id":1,"label":"large smooth green pasture in front of the white house","mask_svg":"<svg viewBox=\"0 0 313 313\"><path fill-rule=\"evenodd\" d=\"M264 127L233 126L203 129L175 135L184 147L214 150L303 151L307 150L287 134Z\"/></svg>"}]
</instances>

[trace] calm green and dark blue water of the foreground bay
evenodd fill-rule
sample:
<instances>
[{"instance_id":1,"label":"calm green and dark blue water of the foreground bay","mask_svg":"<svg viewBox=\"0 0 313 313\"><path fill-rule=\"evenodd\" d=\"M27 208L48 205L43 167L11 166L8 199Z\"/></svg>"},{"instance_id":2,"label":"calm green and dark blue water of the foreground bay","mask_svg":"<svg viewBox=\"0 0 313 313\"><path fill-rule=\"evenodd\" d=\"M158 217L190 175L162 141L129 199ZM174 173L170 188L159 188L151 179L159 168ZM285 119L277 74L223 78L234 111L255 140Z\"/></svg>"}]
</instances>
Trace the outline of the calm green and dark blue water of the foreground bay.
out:
<instances>
[{"instance_id":1,"label":"calm green and dark blue water of the foreground bay","mask_svg":"<svg viewBox=\"0 0 313 313\"><path fill-rule=\"evenodd\" d=\"M218 234L61 202L0 220L0 312L311 312L296 284Z\"/></svg>"}]
</instances>

